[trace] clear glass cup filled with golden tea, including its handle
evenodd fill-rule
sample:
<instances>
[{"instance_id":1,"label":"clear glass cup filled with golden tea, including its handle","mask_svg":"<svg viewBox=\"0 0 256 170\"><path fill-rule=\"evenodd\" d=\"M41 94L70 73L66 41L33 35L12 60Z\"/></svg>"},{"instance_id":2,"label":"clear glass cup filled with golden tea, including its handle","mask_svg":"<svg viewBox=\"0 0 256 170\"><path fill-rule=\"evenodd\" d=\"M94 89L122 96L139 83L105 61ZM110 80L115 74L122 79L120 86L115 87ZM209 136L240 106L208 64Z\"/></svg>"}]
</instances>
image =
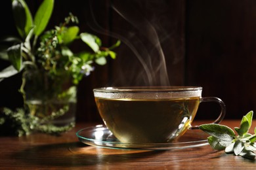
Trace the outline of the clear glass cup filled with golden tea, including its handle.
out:
<instances>
[{"instance_id":1,"label":"clear glass cup filled with golden tea, including its handle","mask_svg":"<svg viewBox=\"0 0 256 170\"><path fill-rule=\"evenodd\" d=\"M191 126L203 101L225 106L217 97L202 97L201 87L96 88L96 106L104 124L122 143L167 143Z\"/></svg>"}]
</instances>

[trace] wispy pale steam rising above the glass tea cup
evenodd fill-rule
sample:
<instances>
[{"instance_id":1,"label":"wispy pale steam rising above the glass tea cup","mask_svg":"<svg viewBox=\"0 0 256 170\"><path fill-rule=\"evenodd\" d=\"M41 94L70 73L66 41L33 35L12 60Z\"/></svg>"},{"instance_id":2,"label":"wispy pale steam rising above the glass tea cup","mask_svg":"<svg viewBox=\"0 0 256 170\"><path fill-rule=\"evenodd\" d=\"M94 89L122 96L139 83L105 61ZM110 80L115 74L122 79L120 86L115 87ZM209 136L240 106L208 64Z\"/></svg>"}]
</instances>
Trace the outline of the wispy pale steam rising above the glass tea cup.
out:
<instances>
[{"instance_id":1,"label":"wispy pale steam rising above the glass tea cup","mask_svg":"<svg viewBox=\"0 0 256 170\"><path fill-rule=\"evenodd\" d=\"M117 33L115 30L110 32L101 27L94 17L93 11L96 10L91 10L93 23L89 25L98 33L104 33L121 40L122 44L125 44L125 47L128 47L136 56L136 58L132 58L131 54L127 54L127 50L117 54L119 60L125 60L123 67L126 68L121 70L121 66L118 72L126 76L129 75L129 78L120 76L124 82L126 81L122 85L169 86L165 55L161 45L167 39L171 39L173 33L168 33L161 27L160 22L164 16L154 14L154 10L148 10L150 13L143 14L141 11L144 10L140 9L148 7L148 4L129 1L129 3L135 3L134 5L129 4L128 7L133 7L133 9L129 9L125 3L127 2L121 1L112 4L111 7L114 14L129 25L126 30L121 31L123 33ZM159 10L162 9L159 8ZM167 18L165 18L165 22L168 22ZM114 29L118 30L119 28L116 27ZM121 29L124 28L121 27ZM127 70L127 68L129 69ZM131 81L131 83L127 81Z\"/></svg>"}]
</instances>

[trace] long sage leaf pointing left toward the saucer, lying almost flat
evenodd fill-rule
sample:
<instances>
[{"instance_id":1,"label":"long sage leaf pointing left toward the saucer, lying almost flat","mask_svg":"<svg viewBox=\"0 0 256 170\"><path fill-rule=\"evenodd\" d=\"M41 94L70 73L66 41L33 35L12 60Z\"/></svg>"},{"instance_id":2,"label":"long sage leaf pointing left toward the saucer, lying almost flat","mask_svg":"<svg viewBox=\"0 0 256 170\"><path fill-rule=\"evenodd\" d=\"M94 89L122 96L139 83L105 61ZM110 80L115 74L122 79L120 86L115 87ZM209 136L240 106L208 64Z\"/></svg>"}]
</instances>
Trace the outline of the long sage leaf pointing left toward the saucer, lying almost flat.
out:
<instances>
[{"instance_id":1,"label":"long sage leaf pointing left toward the saucer, lying almost flat","mask_svg":"<svg viewBox=\"0 0 256 170\"><path fill-rule=\"evenodd\" d=\"M208 133L209 135L213 135L217 139L221 139L223 141L232 141L236 134L230 127L219 125L219 124L203 124L199 126L202 131Z\"/></svg>"}]
</instances>

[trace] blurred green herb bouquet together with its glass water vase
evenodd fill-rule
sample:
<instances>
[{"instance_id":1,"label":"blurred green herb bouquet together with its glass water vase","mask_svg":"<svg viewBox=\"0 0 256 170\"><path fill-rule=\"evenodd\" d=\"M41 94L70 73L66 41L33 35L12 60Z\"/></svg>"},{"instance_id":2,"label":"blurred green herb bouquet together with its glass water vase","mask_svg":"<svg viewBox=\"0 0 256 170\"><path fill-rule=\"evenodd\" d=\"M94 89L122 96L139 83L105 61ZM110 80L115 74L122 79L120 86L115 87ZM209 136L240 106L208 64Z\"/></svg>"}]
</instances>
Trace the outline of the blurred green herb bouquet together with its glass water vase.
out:
<instances>
[{"instance_id":1,"label":"blurred green herb bouquet together with its glass water vase","mask_svg":"<svg viewBox=\"0 0 256 170\"><path fill-rule=\"evenodd\" d=\"M26 1L12 0L20 37L2 41L11 46L2 49L0 58L9 60L11 65L0 72L0 81L22 73L20 92L25 105L22 109L0 110L0 132L9 129L20 136L32 131L58 134L71 129L77 84L83 76L90 75L94 63L105 65L107 57L116 58L113 49L120 42L106 48L96 35L80 33L78 19L71 13L64 22L45 31L53 9L54 0L44 0L32 16ZM89 50L74 53L70 49L74 41L84 42Z\"/></svg>"}]
</instances>

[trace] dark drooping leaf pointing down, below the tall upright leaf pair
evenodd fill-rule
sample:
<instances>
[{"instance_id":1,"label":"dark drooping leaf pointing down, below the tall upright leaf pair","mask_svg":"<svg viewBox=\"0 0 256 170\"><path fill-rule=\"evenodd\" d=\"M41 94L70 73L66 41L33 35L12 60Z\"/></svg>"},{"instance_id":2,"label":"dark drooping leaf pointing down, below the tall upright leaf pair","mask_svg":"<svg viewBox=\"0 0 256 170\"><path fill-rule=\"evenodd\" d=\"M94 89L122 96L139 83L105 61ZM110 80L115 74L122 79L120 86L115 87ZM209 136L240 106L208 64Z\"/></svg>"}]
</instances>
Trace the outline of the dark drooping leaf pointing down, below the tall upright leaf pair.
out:
<instances>
[{"instance_id":1,"label":"dark drooping leaf pointing down, below the tall upright leaf pair","mask_svg":"<svg viewBox=\"0 0 256 170\"><path fill-rule=\"evenodd\" d=\"M22 50L21 50L21 44L16 44L14 46L11 46L7 49L7 54L9 56L9 59L13 65L13 67L20 71L21 65L22 65Z\"/></svg>"}]
</instances>

